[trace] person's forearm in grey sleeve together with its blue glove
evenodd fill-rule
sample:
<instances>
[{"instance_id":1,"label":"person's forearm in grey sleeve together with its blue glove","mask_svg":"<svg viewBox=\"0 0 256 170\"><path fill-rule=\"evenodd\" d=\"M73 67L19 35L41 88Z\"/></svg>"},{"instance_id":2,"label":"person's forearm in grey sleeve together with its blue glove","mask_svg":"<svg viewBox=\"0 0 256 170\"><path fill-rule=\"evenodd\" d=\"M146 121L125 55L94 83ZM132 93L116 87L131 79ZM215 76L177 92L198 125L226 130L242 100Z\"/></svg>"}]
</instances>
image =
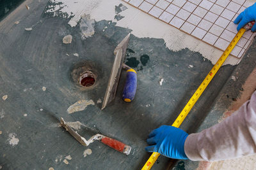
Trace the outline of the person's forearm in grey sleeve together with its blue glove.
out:
<instances>
[{"instance_id":1,"label":"person's forearm in grey sleeve together with its blue glove","mask_svg":"<svg viewBox=\"0 0 256 170\"><path fill-rule=\"evenodd\" d=\"M162 125L149 134L147 152L173 159L225 160L256 153L256 91L220 124L195 134Z\"/></svg>"}]
</instances>

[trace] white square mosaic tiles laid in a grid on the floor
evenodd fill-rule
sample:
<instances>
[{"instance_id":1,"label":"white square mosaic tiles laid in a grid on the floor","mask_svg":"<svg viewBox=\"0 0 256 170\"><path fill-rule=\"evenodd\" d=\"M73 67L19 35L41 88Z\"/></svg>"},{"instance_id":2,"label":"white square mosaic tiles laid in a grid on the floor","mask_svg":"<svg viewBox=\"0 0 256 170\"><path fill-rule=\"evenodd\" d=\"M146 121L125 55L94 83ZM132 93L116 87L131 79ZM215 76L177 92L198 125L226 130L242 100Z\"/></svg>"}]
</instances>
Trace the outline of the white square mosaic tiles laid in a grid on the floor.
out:
<instances>
[{"instance_id":1,"label":"white square mosaic tiles laid in a grid on the floor","mask_svg":"<svg viewBox=\"0 0 256 170\"><path fill-rule=\"evenodd\" d=\"M124 1L223 51L237 33L234 20L253 4L252 0ZM253 36L251 31L244 33L231 54L241 57Z\"/></svg>"}]
</instances>

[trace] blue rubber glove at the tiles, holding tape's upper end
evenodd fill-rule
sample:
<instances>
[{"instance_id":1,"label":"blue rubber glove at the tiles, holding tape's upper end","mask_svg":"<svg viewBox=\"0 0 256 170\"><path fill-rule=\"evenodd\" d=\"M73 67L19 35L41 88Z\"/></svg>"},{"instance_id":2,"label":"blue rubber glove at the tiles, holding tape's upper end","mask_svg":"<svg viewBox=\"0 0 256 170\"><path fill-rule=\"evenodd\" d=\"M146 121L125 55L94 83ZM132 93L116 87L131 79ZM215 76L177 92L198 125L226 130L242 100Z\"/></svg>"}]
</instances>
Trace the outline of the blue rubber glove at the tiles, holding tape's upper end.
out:
<instances>
[{"instance_id":1,"label":"blue rubber glove at the tiles, holding tape's upper end","mask_svg":"<svg viewBox=\"0 0 256 170\"><path fill-rule=\"evenodd\" d=\"M238 24L237 31L239 31L248 22L256 20L256 3L246 8L240 15L234 20L235 24ZM256 31L256 24L252 27L252 32Z\"/></svg>"}]
</instances>

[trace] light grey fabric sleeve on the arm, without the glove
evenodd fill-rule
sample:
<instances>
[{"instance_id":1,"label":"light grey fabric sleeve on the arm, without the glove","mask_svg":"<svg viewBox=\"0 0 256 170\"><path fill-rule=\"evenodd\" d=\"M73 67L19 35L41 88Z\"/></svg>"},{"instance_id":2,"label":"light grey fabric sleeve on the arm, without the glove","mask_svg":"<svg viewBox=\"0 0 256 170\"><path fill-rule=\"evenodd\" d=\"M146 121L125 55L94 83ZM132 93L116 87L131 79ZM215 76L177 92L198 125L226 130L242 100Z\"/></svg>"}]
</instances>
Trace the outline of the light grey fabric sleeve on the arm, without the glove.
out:
<instances>
[{"instance_id":1,"label":"light grey fabric sleeve on the arm, without the glove","mask_svg":"<svg viewBox=\"0 0 256 170\"><path fill-rule=\"evenodd\" d=\"M235 159L256 153L256 91L220 124L189 134L184 148L191 160Z\"/></svg>"}]
</instances>

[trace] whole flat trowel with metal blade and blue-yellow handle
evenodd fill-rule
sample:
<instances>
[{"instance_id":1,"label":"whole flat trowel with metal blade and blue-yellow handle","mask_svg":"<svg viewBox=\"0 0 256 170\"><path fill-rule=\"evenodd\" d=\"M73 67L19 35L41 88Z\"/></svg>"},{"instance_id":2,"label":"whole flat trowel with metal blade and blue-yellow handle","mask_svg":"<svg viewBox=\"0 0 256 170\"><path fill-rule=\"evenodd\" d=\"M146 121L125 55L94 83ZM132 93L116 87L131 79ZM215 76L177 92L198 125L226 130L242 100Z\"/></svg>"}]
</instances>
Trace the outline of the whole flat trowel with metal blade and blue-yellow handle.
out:
<instances>
[{"instance_id":1,"label":"whole flat trowel with metal blade and blue-yellow handle","mask_svg":"<svg viewBox=\"0 0 256 170\"><path fill-rule=\"evenodd\" d=\"M118 86L118 81L122 68L127 72L124 91L123 91L123 100L126 102L131 102L134 99L137 88L137 73L134 69L124 64L124 58L126 49L129 43L130 34L128 34L115 48L114 54L115 61L111 70L110 78L108 81L108 87L105 93L104 101L102 104L102 110L115 98L116 89Z\"/></svg>"}]
</instances>

